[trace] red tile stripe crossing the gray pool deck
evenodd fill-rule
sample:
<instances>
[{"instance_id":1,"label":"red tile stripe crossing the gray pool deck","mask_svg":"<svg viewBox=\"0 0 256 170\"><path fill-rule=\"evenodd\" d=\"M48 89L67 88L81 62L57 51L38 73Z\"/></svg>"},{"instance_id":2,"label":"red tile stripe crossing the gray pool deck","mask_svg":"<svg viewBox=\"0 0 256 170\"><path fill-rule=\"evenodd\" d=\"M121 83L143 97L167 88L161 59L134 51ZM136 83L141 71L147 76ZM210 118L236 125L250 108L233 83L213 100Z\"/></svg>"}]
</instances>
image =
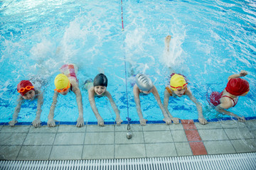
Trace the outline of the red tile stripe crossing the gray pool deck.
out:
<instances>
[{"instance_id":1,"label":"red tile stripe crossing the gray pool deck","mask_svg":"<svg viewBox=\"0 0 256 170\"><path fill-rule=\"evenodd\" d=\"M193 120L181 120L181 123L185 130L193 155L207 154L206 147L203 145L202 139Z\"/></svg>"}]
</instances>

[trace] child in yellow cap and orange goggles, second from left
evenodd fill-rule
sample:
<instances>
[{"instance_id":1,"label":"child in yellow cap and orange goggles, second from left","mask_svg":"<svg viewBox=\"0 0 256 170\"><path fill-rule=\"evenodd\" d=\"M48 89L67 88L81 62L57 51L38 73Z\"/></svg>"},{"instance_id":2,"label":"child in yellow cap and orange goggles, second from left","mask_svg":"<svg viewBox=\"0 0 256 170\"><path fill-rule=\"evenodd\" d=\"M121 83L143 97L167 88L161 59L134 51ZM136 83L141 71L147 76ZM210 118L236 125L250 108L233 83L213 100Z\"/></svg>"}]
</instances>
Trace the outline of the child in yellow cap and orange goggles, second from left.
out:
<instances>
[{"instance_id":1,"label":"child in yellow cap and orange goggles, second from left","mask_svg":"<svg viewBox=\"0 0 256 170\"><path fill-rule=\"evenodd\" d=\"M61 74L58 74L55 77L54 84L54 94L53 94L53 103L50 106L50 113L48 115L48 127L55 127L54 111L57 104L58 95L61 94L63 96L67 95L69 91L73 91L76 96L76 101L78 103L78 119L76 126L78 128L84 125L83 120L83 109L82 109L82 95L78 85L77 72L78 67L75 64L64 64L60 68Z\"/></svg>"}]
</instances>

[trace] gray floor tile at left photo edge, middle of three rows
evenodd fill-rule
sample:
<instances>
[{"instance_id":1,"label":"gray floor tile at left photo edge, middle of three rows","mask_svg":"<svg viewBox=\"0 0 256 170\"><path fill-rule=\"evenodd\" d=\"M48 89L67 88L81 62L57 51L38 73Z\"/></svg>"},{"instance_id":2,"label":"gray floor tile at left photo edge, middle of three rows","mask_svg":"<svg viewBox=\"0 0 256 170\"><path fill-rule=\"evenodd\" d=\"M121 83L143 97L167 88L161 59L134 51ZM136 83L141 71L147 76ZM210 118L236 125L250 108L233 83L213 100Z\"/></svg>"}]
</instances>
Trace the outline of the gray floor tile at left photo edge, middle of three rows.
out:
<instances>
[{"instance_id":1,"label":"gray floor tile at left photo edge, middle of three rows","mask_svg":"<svg viewBox=\"0 0 256 170\"><path fill-rule=\"evenodd\" d=\"M0 133L0 145L22 145L26 133Z\"/></svg>"}]
</instances>

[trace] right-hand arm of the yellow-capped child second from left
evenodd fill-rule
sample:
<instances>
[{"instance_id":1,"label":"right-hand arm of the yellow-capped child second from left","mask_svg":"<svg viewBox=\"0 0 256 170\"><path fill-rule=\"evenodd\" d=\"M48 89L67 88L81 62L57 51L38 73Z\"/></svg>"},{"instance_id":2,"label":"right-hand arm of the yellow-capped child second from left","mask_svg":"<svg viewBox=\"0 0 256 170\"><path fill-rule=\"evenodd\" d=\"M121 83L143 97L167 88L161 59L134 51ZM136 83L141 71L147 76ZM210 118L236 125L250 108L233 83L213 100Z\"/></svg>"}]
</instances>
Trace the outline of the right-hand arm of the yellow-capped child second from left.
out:
<instances>
[{"instance_id":1,"label":"right-hand arm of the yellow-capped child second from left","mask_svg":"<svg viewBox=\"0 0 256 170\"><path fill-rule=\"evenodd\" d=\"M82 108L82 94L78 87L78 84L75 82L73 85L73 92L76 97L76 101L78 103L78 120L77 120L77 127L81 128L83 125L85 125L84 119L83 119L83 108Z\"/></svg>"}]
</instances>

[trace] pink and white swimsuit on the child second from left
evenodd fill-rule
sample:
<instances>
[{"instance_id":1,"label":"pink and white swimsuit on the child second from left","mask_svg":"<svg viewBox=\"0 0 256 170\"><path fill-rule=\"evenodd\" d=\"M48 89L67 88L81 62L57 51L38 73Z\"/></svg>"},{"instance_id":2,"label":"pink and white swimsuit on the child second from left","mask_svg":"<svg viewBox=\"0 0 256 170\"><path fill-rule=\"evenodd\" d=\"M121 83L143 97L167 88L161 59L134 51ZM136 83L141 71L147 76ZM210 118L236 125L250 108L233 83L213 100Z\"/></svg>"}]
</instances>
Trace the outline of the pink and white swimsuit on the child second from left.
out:
<instances>
[{"instance_id":1,"label":"pink and white swimsuit on the child second from left","mask_svg":"<svg viewBox=\"0 0 256 170\"><path fill-rule=\"evenodd\" d=\"M64 64L60 68L60 72L65 74L69 80L75 80L78 82L77 74L78 74L78 67L75 64Z\"/></svg>"}]
</instances>

